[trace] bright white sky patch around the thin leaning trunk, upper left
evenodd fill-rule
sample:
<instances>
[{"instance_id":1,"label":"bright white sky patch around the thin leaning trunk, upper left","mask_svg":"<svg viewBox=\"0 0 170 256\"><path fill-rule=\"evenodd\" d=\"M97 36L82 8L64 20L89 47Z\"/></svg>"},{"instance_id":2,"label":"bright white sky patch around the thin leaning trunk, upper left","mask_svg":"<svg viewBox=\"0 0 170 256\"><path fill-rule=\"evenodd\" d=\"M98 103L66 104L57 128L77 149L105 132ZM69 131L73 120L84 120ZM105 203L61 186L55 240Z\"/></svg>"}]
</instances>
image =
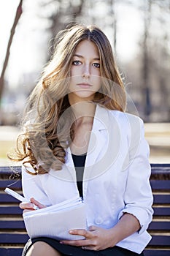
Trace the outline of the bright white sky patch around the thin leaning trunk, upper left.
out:
<instances>
[{"instance_id":1,"label":"bright white sky patch around the thin leaning trunk, upper left","mask_svg":"<svg viewBox=\"0 0 170 256\"><path fill-rule=\"evenodd\" d=\"M43 33L43 22L36 17L35 1L27 1L27 9L21 15L15 29L7 69L7 79L17 86L20 75L34 73L44 61L41 48L47 40ZM0 70L4 63L7 42L19 0L0 0ZM24 10L24 9L23 9Z\"/></svg>"}]
</instances>

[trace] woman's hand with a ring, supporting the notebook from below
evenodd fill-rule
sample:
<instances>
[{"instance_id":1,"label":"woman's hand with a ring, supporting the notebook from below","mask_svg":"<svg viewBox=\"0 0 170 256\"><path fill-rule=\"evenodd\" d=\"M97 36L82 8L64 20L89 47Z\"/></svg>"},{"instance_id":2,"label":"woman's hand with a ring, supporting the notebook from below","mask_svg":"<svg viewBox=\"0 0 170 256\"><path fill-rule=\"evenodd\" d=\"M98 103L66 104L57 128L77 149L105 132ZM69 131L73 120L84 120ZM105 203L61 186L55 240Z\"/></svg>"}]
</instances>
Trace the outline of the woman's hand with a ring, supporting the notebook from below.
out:
<instances>
[{"instance_id":1,"label":"woman's hand with a ring, supporting the notebook from below","mask_svg":"<svg viewBox=\"0 0 170 256\"><path fill-rule=\"evenodd\" d=\"M82 249L101 250L115 246L116 241L111 229L90 226L88 230L70 230L70 234L85 236L82 240L63 240L61 244L69 244L72 246L81 246Z\"/></svg>"}]
</instances>

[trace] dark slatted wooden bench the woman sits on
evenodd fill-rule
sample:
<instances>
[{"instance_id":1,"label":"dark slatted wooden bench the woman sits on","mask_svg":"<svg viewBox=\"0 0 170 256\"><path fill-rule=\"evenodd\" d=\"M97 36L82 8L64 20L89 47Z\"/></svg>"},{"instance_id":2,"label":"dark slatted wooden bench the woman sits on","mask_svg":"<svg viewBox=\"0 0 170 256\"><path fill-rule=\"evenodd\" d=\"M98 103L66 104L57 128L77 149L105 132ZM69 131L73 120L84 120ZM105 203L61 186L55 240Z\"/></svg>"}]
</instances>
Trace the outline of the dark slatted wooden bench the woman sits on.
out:
<instances>
[{"instance_id":1,"label":"dark slatted wooden bench the woman sits on","mask_svg":"<svg viewBox=\"0 0 170 256\"><path fill-rule=\"evenodd\" d=\"M152 164L150 184L154 216L148 228L152 236L144 256L170 254L170 164ZM12 184L12 185L11 185ZM0 167L0 255L20 256L28 240L18 200L4 192L10 186L22 194L20 167Z\"/></svg>"}]
</instances>

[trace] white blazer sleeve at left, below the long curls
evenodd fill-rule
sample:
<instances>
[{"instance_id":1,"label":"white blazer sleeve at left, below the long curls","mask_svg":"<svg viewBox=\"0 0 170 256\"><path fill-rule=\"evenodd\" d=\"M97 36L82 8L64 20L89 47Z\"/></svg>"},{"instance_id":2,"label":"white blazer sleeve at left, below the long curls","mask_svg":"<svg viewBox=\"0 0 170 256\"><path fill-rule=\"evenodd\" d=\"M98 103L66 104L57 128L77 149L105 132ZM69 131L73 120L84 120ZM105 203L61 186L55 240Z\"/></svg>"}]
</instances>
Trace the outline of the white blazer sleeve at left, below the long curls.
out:
<instances>
[{"instance_id":1,"label":"white blazer sleeve at left, below the long curls","mask_svg":"<svg viewBox=\"0 0 170 256\"><path fill-rule=\"evenodd\" d=\"M46 175L46 174L42 174ZM29 201L31 197L34 197L39 203L45 206L50 206L50 200L45 194L45 190L42 188L40 175L31 175L26 172L26 168L22 166L22 187L23 195Z\"/></svg>"}]
</instances>

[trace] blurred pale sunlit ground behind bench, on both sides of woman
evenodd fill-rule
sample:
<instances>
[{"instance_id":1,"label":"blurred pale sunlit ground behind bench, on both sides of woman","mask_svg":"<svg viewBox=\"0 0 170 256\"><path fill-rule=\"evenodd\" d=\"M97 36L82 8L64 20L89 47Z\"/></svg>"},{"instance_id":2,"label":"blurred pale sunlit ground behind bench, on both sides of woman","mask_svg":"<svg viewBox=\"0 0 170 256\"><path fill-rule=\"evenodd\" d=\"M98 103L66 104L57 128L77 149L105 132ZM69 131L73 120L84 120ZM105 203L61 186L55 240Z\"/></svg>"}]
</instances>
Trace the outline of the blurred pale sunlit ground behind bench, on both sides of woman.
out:
<instances>
[{"instance_id":1,"label":"blurred pale sunlit ground behind bench, on both sides of woman","mask_svg":"<svg viewBox=\"0 0 170 256\"><path fill-rule=\"evenodd\" d=\"M150 145L150 162L170 162L170 123L144 124L145 138ZM7 159L7 152L15 146L20 130L0 126L0 166L14 165Z\"/></svg>"}]
</instances>

